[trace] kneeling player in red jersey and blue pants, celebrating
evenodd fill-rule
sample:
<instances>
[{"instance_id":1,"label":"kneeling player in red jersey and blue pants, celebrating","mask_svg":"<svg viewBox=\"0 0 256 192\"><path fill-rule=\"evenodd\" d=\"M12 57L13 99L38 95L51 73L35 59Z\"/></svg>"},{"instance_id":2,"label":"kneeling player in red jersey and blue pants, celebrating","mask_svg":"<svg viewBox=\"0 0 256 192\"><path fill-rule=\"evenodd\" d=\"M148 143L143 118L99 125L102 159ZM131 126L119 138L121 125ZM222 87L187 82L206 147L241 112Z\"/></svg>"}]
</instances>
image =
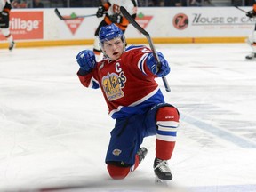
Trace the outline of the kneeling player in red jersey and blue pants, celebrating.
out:
<instances>
[{"instance_id":1,"label":"kneeling player in red jersey and blue pants, celebrating","mask_svg":"<svg viewBox=\"0 0 256 192\"><path fill-rule=\"evenodd\" d=\"M170 72L161 52L161 68L146 46L126 47L124 33L115 24L100 28L100 46L105 59L97 62L90 50L79 52L77 76L89 88L100 88L109 116L116 119L105 162L113 179L124 179L147 155L140 148L143 138L156 135L154 171L156 181L172 180L167 161L172 157L179 112L164 102L156 77ZM158 180L159 179L159 180Z\"/></svg>"}]
</instances>

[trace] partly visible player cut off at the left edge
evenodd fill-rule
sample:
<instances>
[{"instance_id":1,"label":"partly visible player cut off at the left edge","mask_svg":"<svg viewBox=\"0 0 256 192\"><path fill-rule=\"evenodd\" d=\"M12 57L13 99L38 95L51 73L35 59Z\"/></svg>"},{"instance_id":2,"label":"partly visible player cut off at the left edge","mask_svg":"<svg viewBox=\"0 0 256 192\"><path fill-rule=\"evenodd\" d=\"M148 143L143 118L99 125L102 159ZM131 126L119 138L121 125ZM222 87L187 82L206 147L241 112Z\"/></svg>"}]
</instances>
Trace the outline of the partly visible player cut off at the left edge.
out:
<instances>
[{"instance_id":1,"label":"partly visible player cut off at the left edge","mask_svg":"<svg viewBox=\"0 0 256 192\"><path fill-rule=\"evenodd\" d=\"M12 9L10 0L0 0L0 29L2 34L5 36L9 42L9 50L12 51L14 48L14 41L12 34L9 29L9 14Z\"/></svg>"}]
</instances>

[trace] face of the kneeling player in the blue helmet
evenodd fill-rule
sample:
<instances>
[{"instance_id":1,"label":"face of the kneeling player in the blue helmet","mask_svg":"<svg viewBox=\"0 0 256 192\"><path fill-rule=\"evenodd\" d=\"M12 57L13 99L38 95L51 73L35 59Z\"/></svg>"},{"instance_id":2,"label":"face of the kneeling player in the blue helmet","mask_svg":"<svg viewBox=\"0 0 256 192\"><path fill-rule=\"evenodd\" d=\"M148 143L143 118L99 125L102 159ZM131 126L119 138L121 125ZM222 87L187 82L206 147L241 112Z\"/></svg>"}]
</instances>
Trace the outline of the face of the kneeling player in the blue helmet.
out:
<instances>
[{"instance_id":1,"label":"face of the kneeling player in the blue helmet","mask_svg":"<svg viewBox=\"0 0 256 192\"><path fill-rule=\"evenodd\" d=\"M110 41L105 41L103 51L111 60L117 60L124 52L124 43L121 38L114 38Z\"/></svg>"}]
</instances>

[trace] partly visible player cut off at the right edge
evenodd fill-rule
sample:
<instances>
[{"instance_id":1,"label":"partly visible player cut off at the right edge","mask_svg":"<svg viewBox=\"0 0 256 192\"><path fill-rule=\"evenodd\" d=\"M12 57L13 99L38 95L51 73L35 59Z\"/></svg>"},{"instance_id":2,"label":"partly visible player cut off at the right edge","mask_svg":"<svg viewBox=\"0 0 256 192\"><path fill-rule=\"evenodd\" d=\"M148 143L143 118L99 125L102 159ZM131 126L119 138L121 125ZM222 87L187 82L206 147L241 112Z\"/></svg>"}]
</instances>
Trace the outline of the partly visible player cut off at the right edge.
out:
<instances>
[{"instance_id":1,"label":"partly visible player cut off at the right edge","mask_svg":"<svg viewBox=\"0 0 256 192\"><path fill-rule=\"evenodd\" d=\"M253 4L252 11L247 12L246 16L249 18L256 17L256 0ZM252 60L256 58L256 24L255 24L254 30L252 31L252 34L248 36L247 43L252 47L252 53L247 55L245 59Z\"/></svg>"}]
</instances>

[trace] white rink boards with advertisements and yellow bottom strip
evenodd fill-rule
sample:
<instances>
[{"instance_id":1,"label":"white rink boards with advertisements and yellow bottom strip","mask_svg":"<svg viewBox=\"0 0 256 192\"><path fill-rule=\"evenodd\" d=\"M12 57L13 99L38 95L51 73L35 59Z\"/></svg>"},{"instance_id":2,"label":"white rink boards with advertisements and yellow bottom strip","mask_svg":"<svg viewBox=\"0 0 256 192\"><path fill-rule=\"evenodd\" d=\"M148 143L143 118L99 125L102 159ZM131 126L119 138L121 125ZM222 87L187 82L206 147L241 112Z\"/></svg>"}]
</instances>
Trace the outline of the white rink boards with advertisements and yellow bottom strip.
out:
<instances>
[{"instance_id":1,"label":"white rink boards with advertisements and yellow bottom strip","mask_svg":"<svg viewBox=\"0 0 256 192\"><path fill-rule=\"evenodd\" d=\"M251 7L241 7L249 11ZM63 16L93 14L97 8L59 8ZM53 8L12 9L10 29L17 47L92 44L102 18L60 20ZM243 43L255 20L235 7L139 7L136 21L157 44ZM126 30L129 44L147 43L132 26ZM6 47L0 33L0 48Z\"/></svg>"}]
</instances>

